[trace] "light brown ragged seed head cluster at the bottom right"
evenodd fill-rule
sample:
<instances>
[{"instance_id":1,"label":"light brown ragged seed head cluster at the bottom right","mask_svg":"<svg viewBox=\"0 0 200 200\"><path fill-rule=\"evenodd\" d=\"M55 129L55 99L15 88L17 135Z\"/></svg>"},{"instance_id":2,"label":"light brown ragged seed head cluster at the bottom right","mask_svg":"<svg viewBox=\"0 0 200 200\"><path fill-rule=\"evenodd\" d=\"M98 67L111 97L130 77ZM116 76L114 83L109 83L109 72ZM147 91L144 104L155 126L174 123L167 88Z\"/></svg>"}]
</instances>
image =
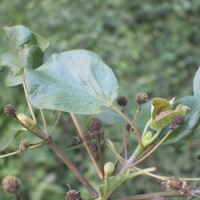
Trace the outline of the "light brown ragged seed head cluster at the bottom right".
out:
<instances>
[{"instance_id":1,"label":"light brown ragged seed head cluster at the bottom right","mask_svg":"<svg viewBox=\"0 0 200 200\"><path fill-rule=\"evenodd\" d=\"M173 176L170 179L165 180L162 185L165 190L176 190L179 191L181 195L187 195L191 190L191 186L188 182Z\"/></svg>"}]
</instances>

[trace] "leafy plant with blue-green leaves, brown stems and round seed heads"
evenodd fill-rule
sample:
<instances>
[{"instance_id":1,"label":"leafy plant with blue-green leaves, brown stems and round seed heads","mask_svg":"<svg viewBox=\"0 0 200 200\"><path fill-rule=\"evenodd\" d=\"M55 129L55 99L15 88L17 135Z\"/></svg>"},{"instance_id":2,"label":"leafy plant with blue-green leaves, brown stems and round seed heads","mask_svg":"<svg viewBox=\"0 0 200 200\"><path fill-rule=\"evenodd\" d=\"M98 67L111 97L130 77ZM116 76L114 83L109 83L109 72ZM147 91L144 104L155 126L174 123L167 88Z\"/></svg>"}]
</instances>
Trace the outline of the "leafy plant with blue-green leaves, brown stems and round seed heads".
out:
<instances>
[{"instance_id":1,"label":"leafy plant with blue-green leaves, brown stems and round seed heads","mask_svg":"<svg viewBox=\"0 0 200 200\"><path fill-rule=\"evenodd\" d=\"M9 117L16 118L25 130L42 141L33 144L22 140L17 151L1 155L0 158L22 154L25 151L48 145L89 192L88 196L84 196L70 189L66 193L65 199L106 200L126 180L138 175L150 176L164 181L165 189L169 191L159 193L161 196L173 195L172 191L176 191L175 195L179 196L196 197L198 195L199 190L192 188L186 181L198 181L199 178L164 177L153 174L154 167L140 169L137 165L163 143L171 144L189 139L192 136L198 136L197 130L200 127L200 69L194 78L194 96L183 97L178 101L153 98L150 101L151 111L146 109L142 113L141 111L144 111L143 104L148 101L148 95L142 92L138 93L136 95L136 111L132 116L133 120L131 120L126 115L126 97L117 98L120 108L115 105L114 100L118 95L117 79L111 68L97 54L88 50L72 50L50 55L49 42L26 27L22 25L5 27L4 31L9 39L11 49L1 56L0 65L9 70L8 86L23 85L31 117L17 113L15 107L11 104L4 107L4 112ZM94 115L101 113L106 107L112 109L112 112L118 114L123 121L124 138L121 141L119 152L112 141L104 139L103 142L104 131L102 130L101 120L92 118L88 124L88 131L84 134L76 116L77 114ZM40 111L43 129L33 108ZM43 109L55 110L60 113L51 131L46 123ZM74 165L73 160L61 151L52 137L52 132L59 121L61 112L68 112L74 122L79 133L79 139L83 143L99 178L99 180L96 180L95 186L92 186L83 177L78 166ZM145 124L141 122L143 125L142 134L136 126L136 124L140 124L140 114L143 114L143 116L151 115ZM0 142L9 144L14 137L13 135L15 133L8 135ZM129 149L132 152L132 155L129 156L127 144L132 135L136 136L137 147ZM104 164L102 143L107 145L104 150L110 150L113 158L116 158L115 164ZM7 145L2 146L1 151L6 147ZM124 156L122 156L123 153ZM108 173L107 170L111 171ZM13 184L9 183L8 185L13 187ZM13 194L16 199L20 199L18 192ZM129 199L131 198L139 197L133 196ZM148 198L151 198L151 194L140 196L140 199Z\"/></svg>"}]
</instances>

